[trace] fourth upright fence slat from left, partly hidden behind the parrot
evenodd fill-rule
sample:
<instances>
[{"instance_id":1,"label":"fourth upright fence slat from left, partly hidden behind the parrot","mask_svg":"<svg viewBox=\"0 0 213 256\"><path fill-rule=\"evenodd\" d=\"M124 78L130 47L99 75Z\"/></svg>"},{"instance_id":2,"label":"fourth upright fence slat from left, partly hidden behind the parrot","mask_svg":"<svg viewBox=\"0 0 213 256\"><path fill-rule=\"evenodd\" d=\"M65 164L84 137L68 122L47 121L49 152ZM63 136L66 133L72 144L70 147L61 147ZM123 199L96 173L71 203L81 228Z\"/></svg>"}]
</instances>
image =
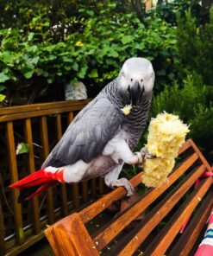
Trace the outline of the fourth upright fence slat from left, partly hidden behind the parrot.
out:
<instances>
[{"instance_id":1,"label":"fourth upright fence slat from left, partly hidden behind the parrot","mask_svg":"<svg viewBox=\"0 0 213 256\"><path fill-rule=\"evenodd\" d=\"M62 137L60 114L56 116L56 131L57 131L57 140L60 141L60 138ZM60 195L61 195L60 198L61 198L62 214L66 216L68 214L66 184L60 184Z\"/></svg>"}]
</instances>

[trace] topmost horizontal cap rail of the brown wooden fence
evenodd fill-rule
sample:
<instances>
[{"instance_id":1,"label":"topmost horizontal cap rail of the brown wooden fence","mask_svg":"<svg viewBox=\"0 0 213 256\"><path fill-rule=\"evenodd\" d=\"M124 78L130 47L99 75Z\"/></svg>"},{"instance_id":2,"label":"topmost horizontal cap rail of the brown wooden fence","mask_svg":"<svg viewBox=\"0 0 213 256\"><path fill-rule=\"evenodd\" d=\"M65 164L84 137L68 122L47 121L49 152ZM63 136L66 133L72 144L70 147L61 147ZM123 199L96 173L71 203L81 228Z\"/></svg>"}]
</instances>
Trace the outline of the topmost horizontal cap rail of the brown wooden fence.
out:
<instances>
[{"instance_id":1,"label":"topmost horizontal cap rail of the brown wooden fence","mask_svg":"<svg viewBox=\"0 0 213 256\"><path fill-rule=\"evenodd\" d=\"M39 104L30 104L25 106L9 106L9 107L1 107L0 116L22 113L22 112L34 112L34 111L42 111L47 109L54 109L60 107L74 107L87 105L91 99L82 99L82 100L66 100L66 101L57 101L57 102L48 102L48 103L39 103Z\"/></svg>"}]
</instances>

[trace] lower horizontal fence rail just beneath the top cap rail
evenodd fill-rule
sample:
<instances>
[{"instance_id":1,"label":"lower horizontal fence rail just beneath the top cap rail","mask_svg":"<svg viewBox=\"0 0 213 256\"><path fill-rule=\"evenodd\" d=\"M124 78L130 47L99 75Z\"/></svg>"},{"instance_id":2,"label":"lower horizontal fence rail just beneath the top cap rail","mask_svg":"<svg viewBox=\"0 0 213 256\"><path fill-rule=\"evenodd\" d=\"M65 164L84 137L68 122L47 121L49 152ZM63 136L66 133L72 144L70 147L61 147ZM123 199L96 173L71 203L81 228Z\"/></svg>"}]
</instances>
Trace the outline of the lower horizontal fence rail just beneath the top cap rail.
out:
<instances>
[{"instance_id":1,"label":"lower horizontal fence rail just beneath the top cap rail","mask_svg":"<svg viewBox=\"0 0 213 256\"><path fill-rule=\"evenodd\" d=\"M70 111L79 111L81 110L85 104L78 105L78 106L63 106L53 109L44 109L41 111L32 111L32 112L22 112L22 113L15 113L10 115L0 116L0 123L7 122L7 121L14 121L23 118L35 118L53 114L60 114L63 112L70 112Z\"/></svg>"}]
</instances>

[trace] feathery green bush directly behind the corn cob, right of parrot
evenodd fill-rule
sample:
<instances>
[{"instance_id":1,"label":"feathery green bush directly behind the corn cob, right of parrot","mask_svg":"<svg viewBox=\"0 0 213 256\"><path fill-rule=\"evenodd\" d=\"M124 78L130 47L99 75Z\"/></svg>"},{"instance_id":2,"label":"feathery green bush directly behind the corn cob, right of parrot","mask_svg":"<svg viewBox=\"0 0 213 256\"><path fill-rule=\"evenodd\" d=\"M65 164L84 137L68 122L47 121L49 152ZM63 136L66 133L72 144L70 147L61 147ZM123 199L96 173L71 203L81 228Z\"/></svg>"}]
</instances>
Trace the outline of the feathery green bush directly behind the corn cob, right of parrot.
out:
<instances>
[{"instance_id":1,"label":"feathery green bush directly behind the corn cob, right of parrot","mask_svg":"<svg viewBox=\"0 0 213 256\"><path fill-rule=\"evenodd\" d=\"M153 97L150 117L159 112L170 112L190 125L189 138L193 138L204 150L210 150L213 144L213 107L210 88L204 86L200 76L189 75L179 86L166 86L165 90Z\"/></svg>"}]
</instances>

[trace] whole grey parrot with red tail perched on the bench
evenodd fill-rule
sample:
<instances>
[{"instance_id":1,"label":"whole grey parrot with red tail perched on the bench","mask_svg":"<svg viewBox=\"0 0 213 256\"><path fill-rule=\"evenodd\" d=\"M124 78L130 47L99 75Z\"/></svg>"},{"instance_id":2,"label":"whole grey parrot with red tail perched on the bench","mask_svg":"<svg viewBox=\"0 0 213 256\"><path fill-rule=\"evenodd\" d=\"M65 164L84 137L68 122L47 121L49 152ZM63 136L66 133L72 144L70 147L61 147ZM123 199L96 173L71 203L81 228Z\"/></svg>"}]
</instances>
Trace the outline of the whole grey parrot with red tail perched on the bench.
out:
<instances>
[{"instance_id":1,"label":"whole grey parrot with red tail perched on the bench","mask_svg":"<svg viewBox=\"0 0 213 256\"><path fill-rule=\"evenodd\" d=\"M74 183L104 176L111 188L133 187L118 179L123 163L140 163L133 153L147 122L154 83L153 66L144 58L124 62L111 81L68 126L41 170L10 185L21 190L20 201L40 194L57 182Z\"/></svg>"}]
</instances>

